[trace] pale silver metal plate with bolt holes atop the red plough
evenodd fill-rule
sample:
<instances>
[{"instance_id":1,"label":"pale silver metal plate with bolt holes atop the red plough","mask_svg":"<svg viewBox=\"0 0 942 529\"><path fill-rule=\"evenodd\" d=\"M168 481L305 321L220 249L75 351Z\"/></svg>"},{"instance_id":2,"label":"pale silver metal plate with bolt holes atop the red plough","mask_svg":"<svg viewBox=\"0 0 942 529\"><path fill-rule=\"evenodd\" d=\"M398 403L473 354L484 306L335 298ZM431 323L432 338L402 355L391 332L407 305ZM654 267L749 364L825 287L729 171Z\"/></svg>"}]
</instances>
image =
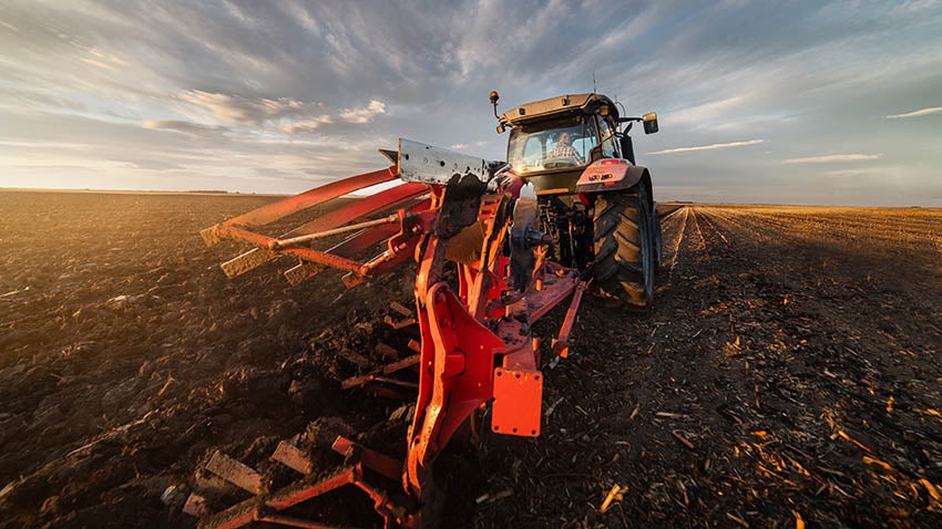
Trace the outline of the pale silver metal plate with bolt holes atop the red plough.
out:
<instances>
[{"instance_id":1,"label":"pale silver metal plate with bolt holes atop the red plough","mask_svg":"<svg viewBox=\"0 0 942 529\"><path fill-rule=\"evenodd\" d=\"M406 181L448 185L454 175L474 175L482 183L490 179L492 162L441 147L399 138L399 177Z\"/></svg>"}]
</instances>

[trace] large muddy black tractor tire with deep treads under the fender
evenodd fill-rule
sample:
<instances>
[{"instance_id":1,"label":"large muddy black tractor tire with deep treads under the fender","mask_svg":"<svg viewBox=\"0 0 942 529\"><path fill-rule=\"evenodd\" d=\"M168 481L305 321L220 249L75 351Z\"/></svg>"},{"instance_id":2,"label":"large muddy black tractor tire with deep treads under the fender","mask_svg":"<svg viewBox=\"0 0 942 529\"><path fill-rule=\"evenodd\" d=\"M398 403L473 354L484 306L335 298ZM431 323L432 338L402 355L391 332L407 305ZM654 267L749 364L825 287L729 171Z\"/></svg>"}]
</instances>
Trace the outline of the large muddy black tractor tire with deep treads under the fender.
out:
<instances>
[{"instance_id":1,"label":"large muddy black tractor tire with deep treads under the fender","mask_svg":"<svg viewBox=\"0 0 942 529\"><path fill-rule=\"evenodd\" d=\"M595 199L593 273L603 295L631 309L654 303L655 227L644 186Z\"/></svg>"}]
</instances>

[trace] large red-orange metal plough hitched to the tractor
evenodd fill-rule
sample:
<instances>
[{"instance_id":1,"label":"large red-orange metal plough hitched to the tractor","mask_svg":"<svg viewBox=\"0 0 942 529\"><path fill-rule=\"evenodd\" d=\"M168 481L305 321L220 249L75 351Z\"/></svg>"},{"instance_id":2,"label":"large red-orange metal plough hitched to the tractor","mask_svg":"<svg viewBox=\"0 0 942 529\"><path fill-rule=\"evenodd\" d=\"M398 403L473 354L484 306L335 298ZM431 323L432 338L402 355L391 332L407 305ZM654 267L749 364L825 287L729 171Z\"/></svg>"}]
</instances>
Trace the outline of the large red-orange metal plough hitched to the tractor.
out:
<instances>
[{"instance_id":1,"label":"large red-orange metal plough hitched to the tractor","mask_svg":"<svg viewBox=\"0 0 942 529\"><path fill-rule=\"evenodd\" d=\"M543 247L551 239L537 230L536 198L526 196L520 178L505 166L406 139L399 152L383 154L393 162L386 169L311 189L202 235L207 245L233 239L254 247L222 264L229 277L287 256L298 260L285 272L291 283L331 267L346 271L344 282L354 287L409 259L418 262L414 324L421 340L414 357L403 364L419 372L407 453L393 458L338 436L334 449L347 456L347 464L325 476L301 450L283 443L273 460L300 476L277 490L259 484L254 469L221 456L209 471L228 483L252 484L242 488L254 497L209 512L204 498L192 495L185 510L201 517L199 527L236 528L254 521L325 527L293 508L345 486L362 490L386 527L420 527L430 516L431 467L462 424L490 407L492 432L540 435L543 375L532 325L569 299L552 348L564 356L587 281L577 270L545 259ZM259 232L334 198L397 180L396 187L347 201L280 237ZM311 247L313 241L341 236L329 249ZM356 259L377 246L379 252L371 259ZM450 263L458 269L457 291L443 274ZM367 483L365 469L401 483L401 489Z\"/></svg>"}]
</instances>

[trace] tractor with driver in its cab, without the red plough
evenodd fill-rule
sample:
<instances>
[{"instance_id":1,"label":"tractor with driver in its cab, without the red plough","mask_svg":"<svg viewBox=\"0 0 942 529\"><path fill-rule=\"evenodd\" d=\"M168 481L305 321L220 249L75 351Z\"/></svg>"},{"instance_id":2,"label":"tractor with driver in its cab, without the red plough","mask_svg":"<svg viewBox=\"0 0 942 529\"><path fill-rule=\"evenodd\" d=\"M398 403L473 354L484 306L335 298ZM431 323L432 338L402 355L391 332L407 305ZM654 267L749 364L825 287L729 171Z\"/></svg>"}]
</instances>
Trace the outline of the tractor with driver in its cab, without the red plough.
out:
<instances>
[{"instance_id":1,"label":"tractor with driver in its cab, without the red plough","mask_svg":"<svg viewBox=\"0 0 942 529\"><path fill-rule=\"evenodd\" d=\"M553 260L591 269L603 295L648 309L661 262L661 222L647 168L635 164L635 122L658 131L657 114L622 117L601 94L575 94L528 103L498 116L510 128L510 174L533 186L540 220L553 238ZM624 129L622 125L626 124Z\"/></svg>"}]
</instances>

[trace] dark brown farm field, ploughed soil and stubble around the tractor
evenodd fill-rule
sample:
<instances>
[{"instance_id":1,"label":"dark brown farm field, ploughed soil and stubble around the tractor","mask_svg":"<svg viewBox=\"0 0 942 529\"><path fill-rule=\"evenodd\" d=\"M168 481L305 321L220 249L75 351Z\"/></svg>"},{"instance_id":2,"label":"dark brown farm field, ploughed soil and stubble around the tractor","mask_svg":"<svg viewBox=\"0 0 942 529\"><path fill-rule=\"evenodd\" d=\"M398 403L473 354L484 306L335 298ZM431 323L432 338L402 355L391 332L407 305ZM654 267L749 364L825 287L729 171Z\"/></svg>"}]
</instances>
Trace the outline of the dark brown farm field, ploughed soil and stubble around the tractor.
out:
<instances>
[{"instance_id":1,"label":"dark brown farm field, ploughed soil and stubble around the tractor","mask_svg":"<svg viewBox=\"0 0 942 529\"><path fill-rule=\"evenodd\" d=\"M322 417L401 455L408 401L341 391L332 351L391 340L413 269L227 280L199 229L270 200L0 193L0 527L195 526L170 486ZM663 214L656 309L585 299L543 435L450 463L449 525L942 525L942 211Z\"/></svg>"}]
</instances>

